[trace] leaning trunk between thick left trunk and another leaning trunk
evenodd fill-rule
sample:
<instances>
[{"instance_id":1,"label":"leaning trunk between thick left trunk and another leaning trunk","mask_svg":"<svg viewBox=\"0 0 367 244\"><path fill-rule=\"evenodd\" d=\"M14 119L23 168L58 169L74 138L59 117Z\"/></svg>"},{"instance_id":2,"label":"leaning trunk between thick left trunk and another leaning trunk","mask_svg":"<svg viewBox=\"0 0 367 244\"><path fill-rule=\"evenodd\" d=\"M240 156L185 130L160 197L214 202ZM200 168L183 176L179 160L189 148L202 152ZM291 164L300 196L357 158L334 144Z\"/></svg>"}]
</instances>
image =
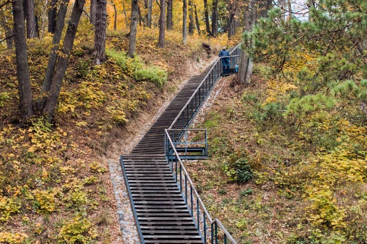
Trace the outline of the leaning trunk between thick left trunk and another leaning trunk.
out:
<instances>
[{"instance_id":1,"label":"leaning trunk between thick left trunk and another leaning trunk","mask_svg":"<svg viewBox=\"0 0 367 244\"><path fill-rule=\"evenodd\" d=\"M42 83L40 98L37 102L37 111L41 112L46 104L47 93L50 90L52 76L55 71L56 61L57 61L57 51L59 50L61 34L63 32L65 24L65 16L68 10L69 0L62 0L59 12L57 13L57 21L55 25L55 33L52 38L52 47L50 52L50 57L48 58L46 74L44 82Z\"/></svg>"}]
</instances>

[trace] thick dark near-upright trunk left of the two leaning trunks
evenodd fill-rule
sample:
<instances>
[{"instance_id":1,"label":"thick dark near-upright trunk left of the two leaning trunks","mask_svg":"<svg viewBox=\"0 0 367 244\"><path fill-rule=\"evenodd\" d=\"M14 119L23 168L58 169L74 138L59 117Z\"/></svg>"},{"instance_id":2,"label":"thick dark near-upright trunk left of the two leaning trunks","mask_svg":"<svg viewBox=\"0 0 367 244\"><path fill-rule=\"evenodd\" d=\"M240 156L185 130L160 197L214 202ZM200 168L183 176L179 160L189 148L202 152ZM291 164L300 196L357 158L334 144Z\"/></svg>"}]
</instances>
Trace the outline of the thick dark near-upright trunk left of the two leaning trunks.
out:
<instances>
[{"instance_id":1,"label":"thick dark near-upright trunk left of the two leaning trunks","mask_svg":"<svg viewBox=\"0 0 367 244\"><path fill-rule=\"evenodd\" d=\"M27 59L27 43L25 41L23 0L12 1L12 6L15 34L15 57L17 62L19 108L21 112L21 118L28 119L33 115L33 108Z\"/></svg>"}]
</instances>

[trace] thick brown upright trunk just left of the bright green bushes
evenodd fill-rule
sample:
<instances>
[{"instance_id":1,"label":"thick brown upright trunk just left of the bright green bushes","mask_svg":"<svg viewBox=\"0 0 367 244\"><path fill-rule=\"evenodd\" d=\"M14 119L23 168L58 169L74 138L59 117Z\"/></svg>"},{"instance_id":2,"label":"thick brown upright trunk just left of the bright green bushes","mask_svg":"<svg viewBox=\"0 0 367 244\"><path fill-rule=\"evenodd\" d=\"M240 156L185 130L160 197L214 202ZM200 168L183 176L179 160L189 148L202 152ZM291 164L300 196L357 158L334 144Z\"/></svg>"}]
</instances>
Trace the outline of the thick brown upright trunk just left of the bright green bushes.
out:
<instances>
[{"instance_id":1,"label":"thick brown upright trunk just left of the bright green bushes","mask_svg":"<svg viewBox=\"0 0 367 244\"><path fill-rule=\"evenodd\" d=\"M95 64L99 65L106 60L106 26L107 26L107 0L97 0L94 25L94 50Z\"/></svg>"}]
</instances>

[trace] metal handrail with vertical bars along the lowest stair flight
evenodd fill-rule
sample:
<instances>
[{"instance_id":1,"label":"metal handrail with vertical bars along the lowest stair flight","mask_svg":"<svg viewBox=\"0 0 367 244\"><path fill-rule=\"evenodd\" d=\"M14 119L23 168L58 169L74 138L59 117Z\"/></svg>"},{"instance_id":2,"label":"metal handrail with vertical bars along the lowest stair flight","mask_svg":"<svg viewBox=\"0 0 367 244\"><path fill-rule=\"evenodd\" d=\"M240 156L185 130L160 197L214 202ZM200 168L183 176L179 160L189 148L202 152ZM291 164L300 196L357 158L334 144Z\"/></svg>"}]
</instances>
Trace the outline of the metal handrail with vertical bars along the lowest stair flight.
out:
<instances>
[{"instance_id":1,"label":"metal handrail with vertical bars along the lowest stair flight","mask_svg":"<svg viewBox=\"0 0 367 244\"><path fill-rule=\"evenodd\" d=\"M211 242L210 242L211 244L217 244L219 240L218 239L218 230L219 230L223 232L223 236L224 236L223 241L225 244L227 244L228 241L232 244L237 244L237 242L229 234L228 230L223 226L223 224L218 219L211 218L210 214L206 210L206 207L203 201L200 198L200 195L196 191L195 186L192 183L189 174L187 173L184 163L182 162L180 155L175 148L175 144L172 142L172 139L168 133L168 130L165 129L164 133L167 138L168 145L170 147L170 148L166 148L167 150L165 150L165 154L168 154L168 153L171 154L171 155L165 155L165 156L168 159L168 164L175 177L175 180L181 191L181 194L183 195L184 201L187 205L187 208L189 209L191 217L194 219L196 227L203 238L204 243L206 244L206 241L211 239ZM173 157L173 154L175 157ZM172 161L170 161L169 159L172 159ZM188 190L189 190L189 193L188 193ZM196 201L194 201L194 198L196 198ZM194 209L195 205L196 205L196 209ZM201 216L203 216L203 218L201 218ZM206 221L209 222L211 238L210 236L207 237L208 233L206 231L209 229L209 227L207 227L208 225L206 224Z\"/></svg>"}]
</instances>

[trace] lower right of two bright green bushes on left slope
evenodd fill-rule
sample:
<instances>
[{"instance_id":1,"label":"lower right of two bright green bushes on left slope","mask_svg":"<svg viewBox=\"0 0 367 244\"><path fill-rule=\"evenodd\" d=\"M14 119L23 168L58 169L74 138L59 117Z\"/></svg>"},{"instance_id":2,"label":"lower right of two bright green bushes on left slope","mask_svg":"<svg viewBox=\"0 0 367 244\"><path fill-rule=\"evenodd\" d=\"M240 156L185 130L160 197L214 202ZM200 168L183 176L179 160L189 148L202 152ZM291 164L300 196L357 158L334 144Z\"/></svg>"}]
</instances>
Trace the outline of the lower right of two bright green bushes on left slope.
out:
<instances>
[{"instance_id":1,"label":"lower right of two bright green bushes on left slope","mask_svg":"<svg viewBox=\"0 0 367 244\"><path fill-rule=\"evenodd\" d=\"M149 81L155 83L158 87L162 87L167 82L167 72L159 67L148 67L137 69L134 71L134 79L138 82Z\"/></svg>"}]
</instances>

